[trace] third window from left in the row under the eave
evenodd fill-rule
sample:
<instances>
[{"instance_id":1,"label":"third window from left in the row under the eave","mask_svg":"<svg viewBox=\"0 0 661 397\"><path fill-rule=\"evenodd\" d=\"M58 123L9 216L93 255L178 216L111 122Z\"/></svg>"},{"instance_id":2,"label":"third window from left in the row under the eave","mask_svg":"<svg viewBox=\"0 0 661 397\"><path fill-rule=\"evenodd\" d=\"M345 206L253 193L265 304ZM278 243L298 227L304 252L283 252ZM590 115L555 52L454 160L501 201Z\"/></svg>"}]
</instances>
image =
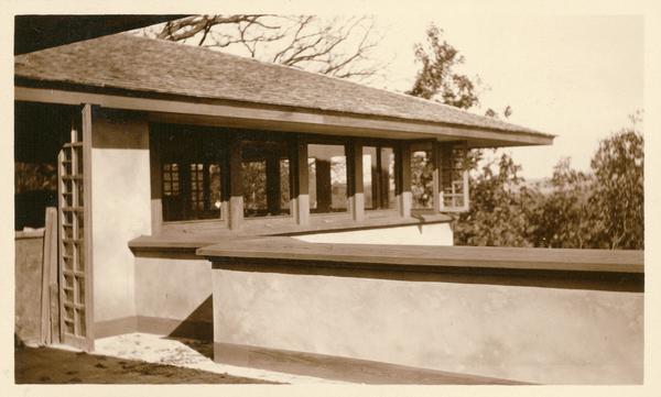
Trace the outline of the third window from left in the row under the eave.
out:
<instances>
[{"instance_id":1,"label":"third window from left in the row under the eave","mask_svg":"<svg viewBox=\"0 0 661 397\"><path fill-rule=\"evenodd\" d=\"M347 210L347 156L344 145L308 144L310 211Z\"/></svg>"}]
</instances>

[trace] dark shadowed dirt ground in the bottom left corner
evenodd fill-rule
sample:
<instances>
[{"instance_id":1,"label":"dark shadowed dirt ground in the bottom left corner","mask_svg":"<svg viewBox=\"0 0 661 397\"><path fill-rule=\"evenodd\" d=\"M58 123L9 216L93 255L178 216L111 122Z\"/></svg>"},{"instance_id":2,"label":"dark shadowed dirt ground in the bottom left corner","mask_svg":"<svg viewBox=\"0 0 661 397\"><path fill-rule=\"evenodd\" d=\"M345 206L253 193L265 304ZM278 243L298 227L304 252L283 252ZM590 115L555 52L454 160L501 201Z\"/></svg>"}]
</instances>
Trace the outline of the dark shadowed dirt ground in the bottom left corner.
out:
<instances>
[{"instance_id":1,"label":"dark shadowed dirt ground in the bottom left corner","mask_svg":"<svg viewBox=\"0 0 661 397\"><path fill-rule=\"evenodd\" d=\"M17 384L257 384L227 374L47 348L14 350Z\"/></svg>"}]
</instances>

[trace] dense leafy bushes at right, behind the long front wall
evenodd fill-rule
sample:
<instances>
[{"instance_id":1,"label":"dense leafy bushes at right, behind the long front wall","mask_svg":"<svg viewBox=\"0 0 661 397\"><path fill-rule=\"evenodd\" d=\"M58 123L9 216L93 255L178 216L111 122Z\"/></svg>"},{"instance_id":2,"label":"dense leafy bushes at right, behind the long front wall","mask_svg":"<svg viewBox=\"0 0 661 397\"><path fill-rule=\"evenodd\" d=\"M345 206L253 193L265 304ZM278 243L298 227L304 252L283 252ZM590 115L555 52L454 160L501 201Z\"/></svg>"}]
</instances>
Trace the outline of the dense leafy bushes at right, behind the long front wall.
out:
<instances>
[{"instance_id":1,"label":"dense leafy bushes at right, behind the long front wall","mask_svg":"<svg viewBox=\"0 0 661 397\"><path fill-rule=\"evenodd\" d=\"M603 140L590 174L561 159L550 192L525 186L502 155L470 180L470 209L453 222L456 245L642 250L643 139L625 129Z\"/></svg>"}]
</instances>

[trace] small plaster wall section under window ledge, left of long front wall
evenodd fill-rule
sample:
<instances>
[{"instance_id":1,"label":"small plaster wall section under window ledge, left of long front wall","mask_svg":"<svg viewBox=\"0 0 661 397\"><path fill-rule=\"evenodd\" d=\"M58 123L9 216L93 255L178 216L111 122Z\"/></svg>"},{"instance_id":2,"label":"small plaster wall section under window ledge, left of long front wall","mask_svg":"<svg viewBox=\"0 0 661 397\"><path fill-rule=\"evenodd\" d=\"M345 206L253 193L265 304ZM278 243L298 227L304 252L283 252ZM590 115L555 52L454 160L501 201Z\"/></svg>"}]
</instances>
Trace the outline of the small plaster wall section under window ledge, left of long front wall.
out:
<instances>
[{"instance_id":1,"label":"small plaster wall section under window ledge, left of long front wall","mask_svg":"<svg viewBox=\"0 0 661 397\"><path fill-rule=\"evenodd\" d=\"M210 310L201 308L210 296L210 262L136 258L138 316L212 322Z\"/></svg>"}]
</instances>

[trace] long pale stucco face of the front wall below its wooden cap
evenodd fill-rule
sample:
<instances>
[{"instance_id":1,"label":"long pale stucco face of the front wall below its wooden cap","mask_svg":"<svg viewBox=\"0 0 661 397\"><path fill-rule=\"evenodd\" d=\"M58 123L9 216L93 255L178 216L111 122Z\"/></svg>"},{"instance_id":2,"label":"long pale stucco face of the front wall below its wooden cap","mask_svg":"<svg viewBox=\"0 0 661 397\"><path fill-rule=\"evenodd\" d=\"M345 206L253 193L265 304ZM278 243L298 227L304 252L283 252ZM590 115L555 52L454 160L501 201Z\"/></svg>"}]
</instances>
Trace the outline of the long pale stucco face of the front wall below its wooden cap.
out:
<instances>
[{"instance_id":1,"label":"long pale stucco face of the front wall below its wooden cap","mask_svg":"<svg viewBox=\"0 0 661 397\"><path fill-rule=\"evenodd\" d=\"M640 293L213 271L214 340L543 384L642 382Z\"/></svg>"}]
</instances>

